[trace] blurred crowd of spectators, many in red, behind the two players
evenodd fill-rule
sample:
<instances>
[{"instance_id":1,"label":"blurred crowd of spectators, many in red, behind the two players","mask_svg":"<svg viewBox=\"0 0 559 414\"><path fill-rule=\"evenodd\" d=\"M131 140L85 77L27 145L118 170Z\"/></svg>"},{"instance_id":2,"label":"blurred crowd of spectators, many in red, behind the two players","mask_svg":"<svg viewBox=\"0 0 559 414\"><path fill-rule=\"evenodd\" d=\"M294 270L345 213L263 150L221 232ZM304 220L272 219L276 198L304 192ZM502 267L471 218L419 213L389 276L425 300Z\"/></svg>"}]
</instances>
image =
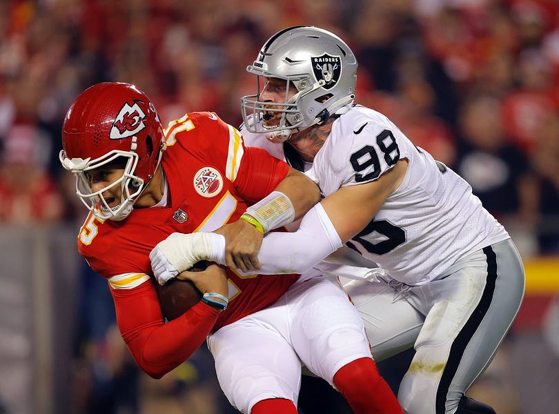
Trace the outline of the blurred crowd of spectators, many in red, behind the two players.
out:
<instances>
[{"instance_id":1,"label":"blurred crowd of spectators, many in red, behind the two players","mask_svg":"<svg viewBox=\"0 0 559 414\"><path fill-rule=\"evenodd\" d=\"M0 238L20 246L10 237L26 234L32 246L24 240L22 248L37 252L37 234L50 234L45 228L77 235L86 212L58 152L66 110L88 86L135 83L155 102L164 124L185 112L211 110L239 126L239 97L256 91L246 66L271 34L300 24L345 39L359 62L357 103L383 112L467 179L527 262L556 265L556 0L0 0ZM77 255L72 237L63 253L68 257ZM3 288L19 275L4 266L10 262L6 250L0 258ZM62 301L68 312L59 315L61 302L51 300L49 322L67 321L67 329L57 331L71 342L61 358L66 363L59 373L57 366L49 371L66 385L54 387L54 401L43 396L50 403L41 412L230 412L204 349L163 380L139 373L115 331L105 282L79 259L71 263L72 289ZM554 276L559 279L559 268ZM50 277L51 290L59 291L57 275ZM482 399L493 395L500 414L559 413L556 391L546 391L559 383L559 290L548 282L527 292L530 306L473 388ZM0 302L6 304L14 296L3 292ZM8 354L21 351L21 343L29 355L37 354L41 330L33 328L23 342L8 340L5 326L12 320L0 319L0 366L13 361ZM536 357L545 362L539 366ZM23 388L36 383L35 365L31 380L20 378ZM530 369L554 372L553 382L532 380ZM39 412L29 402L33 392L23 389L21 402L14 384L10 375L0 377L0 412ZM528 392L529 384L534 390ZM59 408L60 399L67 408Z\"/></svg>"}]
</instances>

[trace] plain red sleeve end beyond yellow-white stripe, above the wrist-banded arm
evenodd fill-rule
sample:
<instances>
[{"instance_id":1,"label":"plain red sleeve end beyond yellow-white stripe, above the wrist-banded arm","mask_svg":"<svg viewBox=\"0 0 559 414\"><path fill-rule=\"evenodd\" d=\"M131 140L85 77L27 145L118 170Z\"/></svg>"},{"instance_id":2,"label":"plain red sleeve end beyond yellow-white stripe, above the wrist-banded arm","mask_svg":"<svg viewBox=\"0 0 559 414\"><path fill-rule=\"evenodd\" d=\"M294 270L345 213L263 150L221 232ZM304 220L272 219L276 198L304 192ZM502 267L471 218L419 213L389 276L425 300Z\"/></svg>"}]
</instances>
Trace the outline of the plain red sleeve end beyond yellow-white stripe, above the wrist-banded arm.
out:
<instances>
[{"instance_id":1,"label":"plain red sleeve end beyond yellow-white stripe, above the wrist-banded arm","mask_svg":"<svg viewBox=\"0 0 559 414\"><path fill-rule=\"evenodd\" d=\"M286 162L272 157L262 148L247 147L244 149L235 188L246 201L255 203L270 194L288 172Z\"/></svg>"}]
</instances>

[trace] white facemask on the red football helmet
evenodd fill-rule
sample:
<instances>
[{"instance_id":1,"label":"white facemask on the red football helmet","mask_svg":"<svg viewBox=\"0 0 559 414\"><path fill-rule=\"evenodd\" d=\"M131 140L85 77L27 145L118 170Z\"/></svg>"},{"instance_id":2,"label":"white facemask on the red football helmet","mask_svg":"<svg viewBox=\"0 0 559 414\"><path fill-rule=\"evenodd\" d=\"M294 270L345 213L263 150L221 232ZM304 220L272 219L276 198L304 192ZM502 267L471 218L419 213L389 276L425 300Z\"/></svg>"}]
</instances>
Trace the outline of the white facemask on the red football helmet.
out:
<instances>
[{"instance_id":1,"label":"white facemask on the red football helmet","mask_svg":"<svg viewBox=\"0 0 559 414\"><path fill-rule=\"evenodd\" d=\"M114 166L117 159L125 159L126 164L122 163L115 168L124 168L121 177L113 181L108 186L98 191L92 191L88 172L101 168L102 166ZM63 166L73 172L76 176L76 194L82 203L96 217L101 220L111 219L120 221L128 217L133 210L133 204L137 197L144 190L144 180L134 175L139 157L135 152L112 150L103 157L94 160L90 159L70 159L66 153L60 152L60 161ZM103 193L107 190L120 186L121 197L117 206L110 207Z\"/></svg>"}]
</instances>

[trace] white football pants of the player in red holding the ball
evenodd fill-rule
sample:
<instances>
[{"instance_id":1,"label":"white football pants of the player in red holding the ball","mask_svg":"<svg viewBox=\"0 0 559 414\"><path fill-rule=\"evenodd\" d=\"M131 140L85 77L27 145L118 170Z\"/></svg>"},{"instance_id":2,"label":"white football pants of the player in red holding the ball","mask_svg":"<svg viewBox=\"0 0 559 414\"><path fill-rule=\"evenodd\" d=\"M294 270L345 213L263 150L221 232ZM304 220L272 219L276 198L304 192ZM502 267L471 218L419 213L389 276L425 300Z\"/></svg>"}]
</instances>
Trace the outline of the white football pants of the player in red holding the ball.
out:
<instances>
[{"instance_id":1,"label":"white football pants of the player in red holding the ball","mask_svg":"<svg viewBox=\"0 0 559 414\"><path fill-rule=\"evenodd\" d=\"M243 413L270 398L296 405L302 364L333 384L342 366L372 358L357 309L322 276L302 276L272 306L210 335L208 348L222 390Z\"/></svg>"}]
</instances>

